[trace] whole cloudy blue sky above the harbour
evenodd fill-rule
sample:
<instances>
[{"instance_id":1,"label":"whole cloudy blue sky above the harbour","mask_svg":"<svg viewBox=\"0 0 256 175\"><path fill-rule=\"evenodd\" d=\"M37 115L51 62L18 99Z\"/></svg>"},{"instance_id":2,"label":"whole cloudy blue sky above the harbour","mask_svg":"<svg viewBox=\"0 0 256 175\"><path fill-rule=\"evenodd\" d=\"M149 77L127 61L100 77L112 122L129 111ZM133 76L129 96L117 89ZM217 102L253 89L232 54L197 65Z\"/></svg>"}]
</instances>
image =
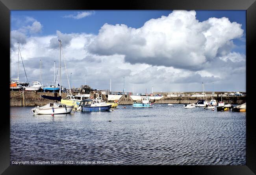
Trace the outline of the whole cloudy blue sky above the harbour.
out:
<instances>
[{"instance_id":1,"label":"whole cloudy blue sky above the harbour","mask_svg":"<svg viewBox=\"0 0 256 175\"><path fill-rule=\"evenodd\" d=\"M28 81L39 81L41 60L41 83L54 84L60 39L66 88L110 89L111 79L119 92L202 91L202 82L246 91L246 11L11 11L10 30L10 78L19 42Z\"/></svg>"}]
</instances>

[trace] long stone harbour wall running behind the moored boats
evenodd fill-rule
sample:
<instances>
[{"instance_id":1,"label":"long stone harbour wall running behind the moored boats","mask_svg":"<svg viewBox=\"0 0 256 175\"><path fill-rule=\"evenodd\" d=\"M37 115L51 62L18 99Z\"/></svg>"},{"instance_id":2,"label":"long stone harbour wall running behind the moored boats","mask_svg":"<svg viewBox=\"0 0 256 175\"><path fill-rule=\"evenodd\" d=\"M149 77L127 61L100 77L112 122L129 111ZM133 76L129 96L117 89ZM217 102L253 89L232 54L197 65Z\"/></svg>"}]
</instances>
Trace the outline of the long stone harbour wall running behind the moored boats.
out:
<instances>
[{"instance_id":1,"label":"long stone harbour wall running behind the moored boats","mask_svg":"<svg viewBox=\"0 0 256 175\"><path fill-rule=\"evenodd\" d=\"M57 96L59 93L50 93L50 92L30 92L30 91L10 91L10 106L37 106L39 104L45 105L52 100L41 98L41 95L47 96ZM61 93L61 97L65 98L66 93ZM119 104L133 104L134 101L139 101L140 96L134 97L130 95L120 95L118 98ZM151 97L152 98L152 97ZM158 97L160 98L160 97ZM113 98L114 99L114 98ZM221 97L214 97L215 100L221 101ZM105 99L107 100L107 99ZM117 99L115 99L117 100ZM161 103L161 104L189 104L196 103L197 100L200 100L200 97L161 97L160 99L151 99L151 102ZM208 99L210 101L210 99ZM246 102L246 97L222 97L223 102L231 104L243 104ZM111 100L108 100L111 102Z\"/></svg>"}]
</instances>

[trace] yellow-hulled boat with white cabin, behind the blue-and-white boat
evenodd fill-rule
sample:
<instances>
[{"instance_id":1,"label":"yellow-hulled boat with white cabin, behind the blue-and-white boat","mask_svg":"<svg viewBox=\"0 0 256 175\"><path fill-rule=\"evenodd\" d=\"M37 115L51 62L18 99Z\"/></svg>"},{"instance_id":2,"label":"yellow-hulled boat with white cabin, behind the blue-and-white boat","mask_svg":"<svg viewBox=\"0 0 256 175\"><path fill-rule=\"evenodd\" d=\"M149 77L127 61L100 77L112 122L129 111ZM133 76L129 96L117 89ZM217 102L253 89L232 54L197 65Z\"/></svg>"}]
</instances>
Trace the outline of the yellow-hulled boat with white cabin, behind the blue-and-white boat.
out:
<instances>
[{"instance_id":1,"label":"yellow-hulled boat with white cabin, behind the blue-and-white boat","mask_svg":"<svg viewBox=\"0 0 256 175\"><path fill-rule=\"evenodd\" d=\"M74 108L78 108L78 105L82 100L86 100L90 98L90 94L82 94L80 93L78 95L68 95L67 98L61 99L62 104L66 105L74 105Z\"/></svg>"}]
</instances>

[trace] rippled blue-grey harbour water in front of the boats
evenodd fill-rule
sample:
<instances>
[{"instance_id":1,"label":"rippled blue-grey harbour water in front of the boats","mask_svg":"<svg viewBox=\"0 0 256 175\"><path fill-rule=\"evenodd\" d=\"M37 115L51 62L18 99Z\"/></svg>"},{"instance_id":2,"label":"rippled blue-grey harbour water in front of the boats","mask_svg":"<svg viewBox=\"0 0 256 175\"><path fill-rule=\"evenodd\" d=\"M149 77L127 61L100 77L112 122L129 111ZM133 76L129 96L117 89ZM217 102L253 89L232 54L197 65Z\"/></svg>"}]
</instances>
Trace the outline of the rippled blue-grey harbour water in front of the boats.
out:
<instances>
[{"instance_id":1,"label":"rippled blue-grey harbour water in front of the boats","mask_svg":"<svg viewBox=\"0 0 256 175\"><path fill-rule=\"evenodd\" d=\"M246 113L184 109L182 104L154 106L119 105L114 111L54 117L33 115L32 107L11 107L11 162L246 164Z\"/></svg>"}]
</instances>

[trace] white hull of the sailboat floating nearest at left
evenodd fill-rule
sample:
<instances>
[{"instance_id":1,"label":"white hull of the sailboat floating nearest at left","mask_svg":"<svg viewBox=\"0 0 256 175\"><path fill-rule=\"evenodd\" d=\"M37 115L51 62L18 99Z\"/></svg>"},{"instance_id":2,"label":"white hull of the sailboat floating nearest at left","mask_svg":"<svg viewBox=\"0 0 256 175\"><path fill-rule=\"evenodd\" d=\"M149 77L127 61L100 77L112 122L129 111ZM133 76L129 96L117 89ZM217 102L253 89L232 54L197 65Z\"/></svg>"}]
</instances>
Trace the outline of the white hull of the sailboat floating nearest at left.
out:
<instances>
[{"instance_id":1,"label":"white hull of the sailboat floating nearest at left","mask_svg":"<svg viewBox=\"0 0 256 175\"><path fill-rule=\"evenodd\" d=\"M40 109L39 108L34 108L32 109L32 112L34 114L40 115L40 114L66 114L70 113L73 109L73 106L70 107L63 107L63 108L45 108L45 109Z\"/></svg>"}]
</instances>

